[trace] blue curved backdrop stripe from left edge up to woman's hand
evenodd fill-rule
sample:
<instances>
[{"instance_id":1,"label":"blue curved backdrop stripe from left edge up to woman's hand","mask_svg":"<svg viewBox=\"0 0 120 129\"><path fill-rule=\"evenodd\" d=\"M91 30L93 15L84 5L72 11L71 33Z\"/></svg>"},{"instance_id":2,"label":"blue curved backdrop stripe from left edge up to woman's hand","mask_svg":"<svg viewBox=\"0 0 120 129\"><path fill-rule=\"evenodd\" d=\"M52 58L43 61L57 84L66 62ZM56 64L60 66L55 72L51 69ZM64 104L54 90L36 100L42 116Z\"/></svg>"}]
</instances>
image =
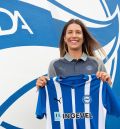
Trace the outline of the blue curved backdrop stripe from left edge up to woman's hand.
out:
<instances>
[{"instance_id":1,"label":"blue curved backdrop stripe from left edge up to woman's hand","mask_svg":"<svg viewBox=\"0 0 120 129\"><path fill-rule=\"evenodd\" d=\"M23 94L35 87L35 84L36 79L29 82L28 84L17 90L14 94L12 94L8 99L6 99L6 101L0 106L0 116L2 116L2 114Z\"/></svg>"}]
</instances>

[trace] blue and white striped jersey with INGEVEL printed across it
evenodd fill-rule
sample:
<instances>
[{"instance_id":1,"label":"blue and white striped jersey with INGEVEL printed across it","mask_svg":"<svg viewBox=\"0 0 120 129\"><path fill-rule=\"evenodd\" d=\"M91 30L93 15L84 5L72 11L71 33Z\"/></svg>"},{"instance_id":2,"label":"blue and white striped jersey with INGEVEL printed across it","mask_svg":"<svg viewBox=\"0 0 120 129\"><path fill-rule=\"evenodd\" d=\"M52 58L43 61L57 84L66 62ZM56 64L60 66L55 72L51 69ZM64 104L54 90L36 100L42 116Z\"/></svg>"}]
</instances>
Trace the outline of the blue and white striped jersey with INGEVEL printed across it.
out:
<instances>
[{"instance_id":1,"label":"blue and white striped jersey with INGEVEL printed across it","mask_svg":"<svg viewBox=\"0 0 120 129\"><path fill-rule=\"evenodd\" d=\"M105 129L107 113L120 116L120 104L94 74L53 77L39 89L36 116L47 129Z\"/></svg>"}]
</instances>

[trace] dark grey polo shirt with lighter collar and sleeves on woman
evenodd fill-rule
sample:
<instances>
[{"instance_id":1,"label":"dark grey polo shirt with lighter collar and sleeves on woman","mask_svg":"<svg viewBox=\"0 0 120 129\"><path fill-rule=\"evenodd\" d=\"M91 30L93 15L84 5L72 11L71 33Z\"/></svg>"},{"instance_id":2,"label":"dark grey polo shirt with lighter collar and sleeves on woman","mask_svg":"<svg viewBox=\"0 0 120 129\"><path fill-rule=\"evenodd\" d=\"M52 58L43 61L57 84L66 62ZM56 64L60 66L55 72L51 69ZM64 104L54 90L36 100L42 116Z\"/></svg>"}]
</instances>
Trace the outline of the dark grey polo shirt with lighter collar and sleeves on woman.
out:
<instances>
[{"instance_id":1,"label":"dark grey polo shirt with lighter collar and sleeves on woman","mask_svg":"<svg viewBox=\"0 0 120 129\"><path fill-rule=\"evenodd\" d=\"M79 74L96 74L106 72L103 62L97 57L82 54L80 59L73 59L68 53L59 59L52 60L48 69L49 77L73 76Z\"/></svg>"}]
</instances>

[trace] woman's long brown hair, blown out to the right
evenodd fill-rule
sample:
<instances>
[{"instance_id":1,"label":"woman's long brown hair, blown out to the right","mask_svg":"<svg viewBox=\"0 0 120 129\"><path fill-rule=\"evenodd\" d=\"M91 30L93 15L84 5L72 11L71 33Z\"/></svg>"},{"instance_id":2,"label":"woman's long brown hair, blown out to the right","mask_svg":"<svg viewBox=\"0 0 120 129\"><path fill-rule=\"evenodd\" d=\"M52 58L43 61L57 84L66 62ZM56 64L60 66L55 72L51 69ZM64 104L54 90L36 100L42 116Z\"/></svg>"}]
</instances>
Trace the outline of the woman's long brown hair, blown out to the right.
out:
<instances>
[{"instance_id":1,"label":"woman's long brown hair, blown out to the right","mask_svg":"<svg viewBox=\"0 0 120 129\"><path fill-rule=\"evenodd\" d=\"M63 57L66 54L66 52L68 52L67 45L64 42L64 36L66 35L67 27L72 23L78 24L82 28L83 38L84 38L84 42L82 45L82 52L86 53L89 56L96 56L94 50L99 49L100 52L102 52L102 54L105 56L105 52L103 48L88 32L87 27L84 25L84 23L79 19L71 19L65 24L61 34L60 43L59 43L60 57Z\"/></svg>"}]
</instances>

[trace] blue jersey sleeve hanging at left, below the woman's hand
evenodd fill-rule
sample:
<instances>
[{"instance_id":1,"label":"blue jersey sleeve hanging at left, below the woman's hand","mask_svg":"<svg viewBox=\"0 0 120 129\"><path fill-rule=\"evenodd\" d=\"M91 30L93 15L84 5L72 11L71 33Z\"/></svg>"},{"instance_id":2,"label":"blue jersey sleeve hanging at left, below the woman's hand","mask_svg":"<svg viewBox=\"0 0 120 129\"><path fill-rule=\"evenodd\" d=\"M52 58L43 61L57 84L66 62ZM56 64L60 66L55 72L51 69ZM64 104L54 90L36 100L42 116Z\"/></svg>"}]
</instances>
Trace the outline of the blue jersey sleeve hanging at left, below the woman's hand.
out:
<instances>
[{"instance_id":1,"label":"blue jersey sleeve hanging at left, below the woman's hand","mask_svg":"<svg viewBox=\"0 0 120 129\"><path fill-rule=\"evenodd\" d=\"M36 117L42 119L46 115L46 91L45 87L39 88L36 106Z\"/></svg>"}]
</instances>

